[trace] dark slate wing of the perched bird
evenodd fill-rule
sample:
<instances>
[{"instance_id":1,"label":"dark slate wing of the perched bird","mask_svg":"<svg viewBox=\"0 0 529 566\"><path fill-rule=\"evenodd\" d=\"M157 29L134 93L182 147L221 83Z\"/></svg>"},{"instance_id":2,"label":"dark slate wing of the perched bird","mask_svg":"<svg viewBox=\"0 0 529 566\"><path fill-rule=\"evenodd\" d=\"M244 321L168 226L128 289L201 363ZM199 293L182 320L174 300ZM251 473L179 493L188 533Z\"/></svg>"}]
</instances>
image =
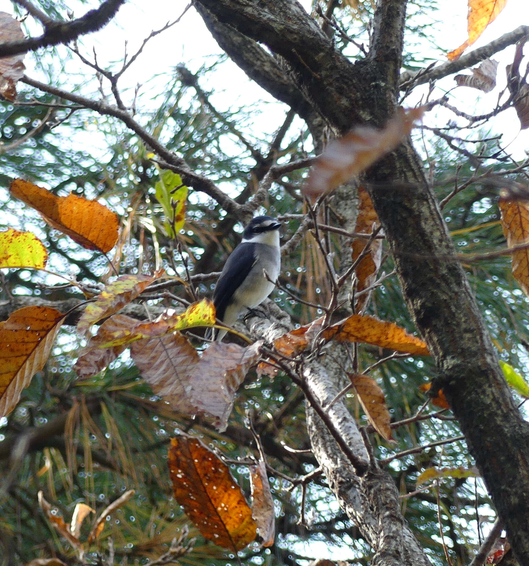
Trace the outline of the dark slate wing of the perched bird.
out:
<instances>
[{"instance_id":1,"label":"dark slate wing of the perched bird","mask_svg":"<svg viewBox=\"0 0 529 566\"><path fill-rule=\"evenodd\" d=\"M255 244L251 242L240 243L227 259L213 291L213 303L219 320L224 319L230 299L248 276L255 261Z\"/></svg>"}]
</instances>

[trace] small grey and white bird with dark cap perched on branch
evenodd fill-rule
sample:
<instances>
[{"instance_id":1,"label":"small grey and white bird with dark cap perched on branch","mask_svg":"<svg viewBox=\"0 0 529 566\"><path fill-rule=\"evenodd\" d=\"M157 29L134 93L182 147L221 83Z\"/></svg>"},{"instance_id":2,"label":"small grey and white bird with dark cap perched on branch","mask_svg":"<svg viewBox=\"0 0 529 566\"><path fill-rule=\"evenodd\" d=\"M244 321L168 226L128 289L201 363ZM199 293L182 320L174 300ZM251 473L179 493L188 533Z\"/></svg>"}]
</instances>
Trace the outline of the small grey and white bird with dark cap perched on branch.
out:
<instances>
[{"instance_id":1,"label":"small grey and white bird with dark cap perched on branch","mask_svg":"<svg viewBox=\"0 0 529 566\"><path fill-rule=\"evenodd\" d=\"M274 288L281 270L279 228L271 216L256 216L244 230L242 242L231 252L213 292L217 318L231 326L248 308L255 308ZM217 333L222 340L227 331Z\"/></svg>"}]
</instances>

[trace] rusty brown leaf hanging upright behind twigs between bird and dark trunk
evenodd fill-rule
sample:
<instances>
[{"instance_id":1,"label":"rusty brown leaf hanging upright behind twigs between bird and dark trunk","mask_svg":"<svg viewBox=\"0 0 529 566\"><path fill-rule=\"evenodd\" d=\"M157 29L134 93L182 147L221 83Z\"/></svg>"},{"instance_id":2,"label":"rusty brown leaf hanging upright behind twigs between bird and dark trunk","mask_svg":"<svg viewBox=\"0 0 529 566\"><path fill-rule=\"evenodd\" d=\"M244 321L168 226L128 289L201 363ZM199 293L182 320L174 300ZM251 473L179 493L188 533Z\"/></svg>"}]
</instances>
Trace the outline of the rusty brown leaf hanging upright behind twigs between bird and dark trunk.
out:
<instances>
[{"instance_id":1,"label":"rusty brown leaf hanging upright behind twigs between bird and dark trunk","mask_svg":"<svg viewBox=\"0 0 529 566\"><path fill-rule=\"evenodd\" d=\"M374 224L378 224L378 216L376 215L371 198L365 188L358 187L358 217L356 228L354 231L360 234L370 234ZM356 261L358 256L362 253L363 248L366 246L365 239L357 238L352 242L352 259ZM357 265L354 270L358 277L357 291L363 291L370 285L373 285L376 280L376 274L380 269L380 262L382 261L382 240L375 239L371 242L369 247L369 254L367 254ZM366 304L369 294L360 295L356 301L358 311Z\"/></svg>"}]
</instances>

